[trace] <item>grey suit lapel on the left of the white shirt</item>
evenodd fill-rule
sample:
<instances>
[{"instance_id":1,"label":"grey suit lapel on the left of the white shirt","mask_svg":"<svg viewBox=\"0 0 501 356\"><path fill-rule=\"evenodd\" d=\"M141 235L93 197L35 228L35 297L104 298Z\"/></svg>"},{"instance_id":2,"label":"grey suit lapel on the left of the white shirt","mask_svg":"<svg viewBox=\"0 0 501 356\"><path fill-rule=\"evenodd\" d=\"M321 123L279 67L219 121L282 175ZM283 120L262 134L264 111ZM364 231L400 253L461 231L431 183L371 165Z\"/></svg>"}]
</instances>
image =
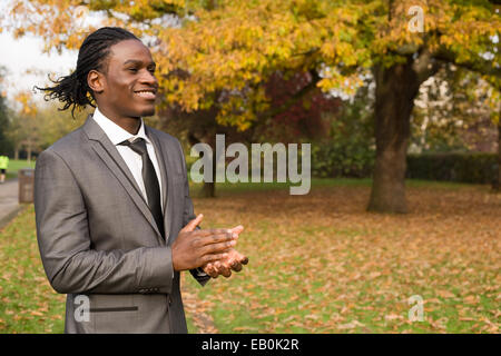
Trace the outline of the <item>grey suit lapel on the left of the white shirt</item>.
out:
<instances>
[{"instance_id":1,"label":"grey suit lapel on the left of the white shirt","mask_svg":"<svg viewBox=\"0 0 501 356\"><path fill-rule=\"evenodd\" d=\"M99 158L102 159L105 165L111 170L118 181L124 186L134 204L138 207L138 209L143 212L145 218L149 221L151 227L157 233L157 238L160 244L164 245L164 238L161 237L160 231L158 231L158 227L155 222L151 210L149 209L145 198L143 197L136 179L134 179L132 174L127 167L127 164L121 158L117 148L111 144L108 136L99 127L99 125L91 118L91 115L88 116L87 121L84 125L84 131L87 134L89 140L91 140L92 149L96 151Z\"/></svg>"}]
</instances>

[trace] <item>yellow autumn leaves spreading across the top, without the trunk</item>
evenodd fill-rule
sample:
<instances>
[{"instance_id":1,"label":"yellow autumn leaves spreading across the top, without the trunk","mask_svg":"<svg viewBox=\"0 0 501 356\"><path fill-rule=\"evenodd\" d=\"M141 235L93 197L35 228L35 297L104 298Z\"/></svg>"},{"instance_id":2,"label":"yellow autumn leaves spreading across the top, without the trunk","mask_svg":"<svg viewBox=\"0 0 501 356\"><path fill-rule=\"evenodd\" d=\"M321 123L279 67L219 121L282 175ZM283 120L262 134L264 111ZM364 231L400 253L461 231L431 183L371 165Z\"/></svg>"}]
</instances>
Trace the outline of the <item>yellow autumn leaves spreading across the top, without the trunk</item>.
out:
<instances>
[{"instance_id":1,"label":"yellow autumn leaves spreading across the top, without the trunk","mask_svg":"<svg viewBox=\"0 0 501 356\"><path fill-rule=\"evenodd\" d=\"M76 0L16 2L16 21L3 18L0 27L42 36L48 48L78 48L92 30L72 30L78 6ZM411 8L421 10L423 32L409 29L415 16ZM501 29L488 1L399 0L390 8L383 0L97 0L89 10L106 13L102 26L122 26L154 39L164 105L186 111L216 105L218 122L240 130L256 119L257 108L267 107L258 91L274 72L330 68L317 86L353 93L360 75L374 63L402 62L423 48L446 50L459 63L482 60ZM176 27L173 14L178 16ZM493 66L500 52L492 53ZM499 79L489 82L495 86ZM218 100L222 91L230 98Z\"/></svg>"}]
</instances>

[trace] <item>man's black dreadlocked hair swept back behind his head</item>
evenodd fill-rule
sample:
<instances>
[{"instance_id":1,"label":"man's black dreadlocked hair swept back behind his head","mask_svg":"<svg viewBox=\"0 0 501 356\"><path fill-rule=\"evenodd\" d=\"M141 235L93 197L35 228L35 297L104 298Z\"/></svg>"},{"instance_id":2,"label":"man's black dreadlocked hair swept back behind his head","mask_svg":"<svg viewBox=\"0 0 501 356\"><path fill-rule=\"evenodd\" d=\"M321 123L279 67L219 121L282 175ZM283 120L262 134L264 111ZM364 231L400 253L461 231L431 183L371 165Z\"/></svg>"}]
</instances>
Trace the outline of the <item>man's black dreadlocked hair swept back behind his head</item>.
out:
<instances>
[{"instance_id":1,"label":"man's black dreadlocked hair swept back behind his head","mask_svg":"<svg viewBox=\"0 0 501 356\"><path fill-rule=\"evenodd\" d=\"M87 36L78 51L77 69L69 76L49 80L56 86L39 88L46 92L46 101L59 99L63 102L60 111L71 107L71 117L75 119L75 109L84 109L87 105L96 107L94 103L94 92L87 83L87 76L91 70L106 72L107 58L111 46L124 40L139 40L134 33L119 27L104 27ZM90 97L89 97L90 96Z\"/></svg>"}]
</instances>

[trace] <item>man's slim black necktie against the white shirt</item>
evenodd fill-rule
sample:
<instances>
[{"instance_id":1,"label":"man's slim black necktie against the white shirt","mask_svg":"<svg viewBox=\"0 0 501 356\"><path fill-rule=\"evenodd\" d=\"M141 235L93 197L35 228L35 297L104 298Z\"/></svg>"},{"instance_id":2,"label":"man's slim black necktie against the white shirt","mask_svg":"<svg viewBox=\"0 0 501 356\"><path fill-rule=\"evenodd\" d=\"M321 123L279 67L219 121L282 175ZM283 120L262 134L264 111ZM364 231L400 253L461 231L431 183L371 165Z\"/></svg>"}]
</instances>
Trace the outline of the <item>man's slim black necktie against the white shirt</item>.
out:
<instances>
[{"instance_id":1,"label":"man's slim black necktie against the white shirt","mask_svg":"<svg viewBox=\"0 0 501 356\"><path fill-rule=\"evenodd\" d=\"M134 142L124 141L122 145L129 146L136 154L141 156L143 159L143 181L145 184L146 196L148 197L148 205L151 214L157 222L158 230L161 237L165 238L164 230L164 216L161 214L160 202L160 186L158 185L157 174L155 167L149 159L148 150L146 149L146 142L143 138L136 139Z\"/></svg>"}]
</instances>

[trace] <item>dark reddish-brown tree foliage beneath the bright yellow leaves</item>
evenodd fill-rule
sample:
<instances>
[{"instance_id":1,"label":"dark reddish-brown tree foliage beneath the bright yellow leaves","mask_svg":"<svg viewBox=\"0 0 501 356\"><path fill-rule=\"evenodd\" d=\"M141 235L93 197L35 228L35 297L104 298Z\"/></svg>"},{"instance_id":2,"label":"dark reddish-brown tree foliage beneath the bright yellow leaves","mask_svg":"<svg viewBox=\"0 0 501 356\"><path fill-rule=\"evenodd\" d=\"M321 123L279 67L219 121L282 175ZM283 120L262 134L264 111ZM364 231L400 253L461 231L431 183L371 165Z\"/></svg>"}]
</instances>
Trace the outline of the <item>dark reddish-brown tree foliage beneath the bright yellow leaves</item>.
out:
<instances>
[{"instance_id":1,"label":"dark reddish-brown tree foliage beneath the bright yellow leaves","mask_svg":"<svg viewBox=\"0 0 501 356\"><path fill-rule=\"evenodd\" d=\"M216 134L224 134L226 145L258 141L297 142L297 140L327 139L331 121L324 113L337 112L341 100L328 96L316 87L312 75L293 73L285 78L281 72L273 73L265 86L271 109L258 112L258 118L246 130L235 126L218 123L216 118L219 105L209 109L186 111L178 103L163 106L159 111L160 128L184 136L190 145L208 144L215 151ZM307 93L305 93L307 92ZM224 102L229 96L222 90L217 101ZM213 160L215 162L215 160ZM216 166L213 170L215 175ZM204 182L202 195L214 197L214 182Z\"/></svg>"}]
</instances>

